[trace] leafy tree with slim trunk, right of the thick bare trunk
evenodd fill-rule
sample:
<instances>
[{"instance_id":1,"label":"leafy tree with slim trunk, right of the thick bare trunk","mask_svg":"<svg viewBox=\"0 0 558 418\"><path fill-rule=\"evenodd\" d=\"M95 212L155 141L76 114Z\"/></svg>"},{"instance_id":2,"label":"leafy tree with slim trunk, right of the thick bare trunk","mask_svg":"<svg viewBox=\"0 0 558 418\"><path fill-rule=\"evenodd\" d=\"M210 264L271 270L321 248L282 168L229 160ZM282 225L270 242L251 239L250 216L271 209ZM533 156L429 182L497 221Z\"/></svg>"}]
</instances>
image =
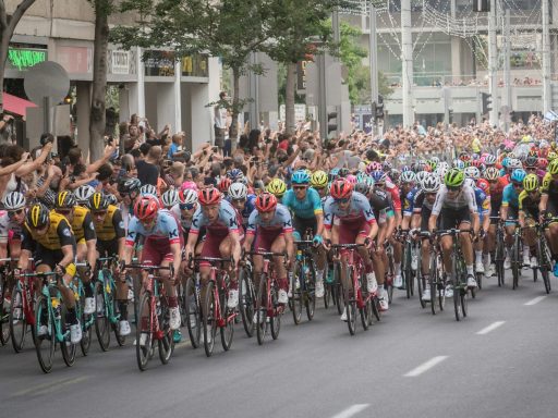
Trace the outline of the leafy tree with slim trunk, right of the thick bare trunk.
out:
<instances>
[{"instance_id":1,"label":"leafy tree with slim trunk, right of the thick bare trunk","mask_svg":"<svg viewBox=\"0 0 558 418\"><path fill-rule=\"evenodd\" d=\"M231 140L235 147L240 100L240 77L250 69L248 57L268 38L268 2L272 0L135 0L122 11L143 8L149 20L140 28L117 27L113 40L124 48L170 48L178 58L195 53L219 57L231 69L233 78ZM253 67L262 72L260 67Z\"/></svg>"}]
</instances>

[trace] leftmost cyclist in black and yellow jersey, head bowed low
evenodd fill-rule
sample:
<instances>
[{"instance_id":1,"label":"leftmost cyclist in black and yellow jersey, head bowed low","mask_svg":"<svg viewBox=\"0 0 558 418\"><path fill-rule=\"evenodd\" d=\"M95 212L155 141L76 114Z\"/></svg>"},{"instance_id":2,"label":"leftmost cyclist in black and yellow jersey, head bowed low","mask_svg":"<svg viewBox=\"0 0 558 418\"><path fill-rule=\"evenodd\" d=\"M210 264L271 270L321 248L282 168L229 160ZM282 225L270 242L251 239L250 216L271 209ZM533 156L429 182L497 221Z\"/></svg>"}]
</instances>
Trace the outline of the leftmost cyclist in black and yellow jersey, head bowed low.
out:
<instances>
[{"instance_id":1,"label":"leftmost cyclist in black and yellow jersey, head bowed low","mask_svg":"<svg viewBox=\"0 0 558 418\"><path fill-rule=\"evenodd\" d=\"M65 321L70 324L70 340L72 344L80 343L82 327L75 311L74 292L69 287L75 275L75 237L68 220L41 204L33 205L25 218L17 270L27 269L31 257L35 258L36 272L56 271L62 279L60 292L68 309ZM36 284L39 292L40 282ZM47 324L39 324L38 336L47 332Z\"/></svg>"}]
</instances>

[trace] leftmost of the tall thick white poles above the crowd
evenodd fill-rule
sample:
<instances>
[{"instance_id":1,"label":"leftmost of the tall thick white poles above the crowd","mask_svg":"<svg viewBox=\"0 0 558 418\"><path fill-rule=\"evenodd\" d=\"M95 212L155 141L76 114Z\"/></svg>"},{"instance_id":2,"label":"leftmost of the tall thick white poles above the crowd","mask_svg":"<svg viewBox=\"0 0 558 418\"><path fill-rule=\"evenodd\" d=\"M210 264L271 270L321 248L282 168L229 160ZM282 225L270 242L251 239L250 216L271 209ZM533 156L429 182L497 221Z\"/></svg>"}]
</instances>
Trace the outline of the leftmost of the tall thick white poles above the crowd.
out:
<instances>
[{"instance_id":1,"label":"leftmost of the tall thick white poles above the crowd","mask_svg":"<svg viewBox=\"0 0 558 418\"><path fill-rule=\"evenodd\" d=\"M495 1L495 0L493 0ZM413 37L411 33L411 0L401 0L401 61L403 88L403 127L414 124L413 111Z\"/></svg>"}]
</instances>

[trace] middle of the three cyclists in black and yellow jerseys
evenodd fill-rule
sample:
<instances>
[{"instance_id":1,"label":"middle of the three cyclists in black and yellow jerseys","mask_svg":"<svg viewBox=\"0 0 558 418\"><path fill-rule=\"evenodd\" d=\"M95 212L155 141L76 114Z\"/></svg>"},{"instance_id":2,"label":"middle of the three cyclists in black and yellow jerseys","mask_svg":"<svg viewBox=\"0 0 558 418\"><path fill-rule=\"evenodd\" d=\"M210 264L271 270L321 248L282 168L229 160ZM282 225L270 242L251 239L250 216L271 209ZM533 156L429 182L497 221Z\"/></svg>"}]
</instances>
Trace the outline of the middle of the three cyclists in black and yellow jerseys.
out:
<instances>
[{"instance_id":1,"label":"middle of the three cyclists in black and yellow jerseys","mask_svg":"<svg viewBox=\"0 0 558 418\"><path fill-rule=\"evenodd\" d=\"M89 210L83 206L77 206L71 192L63 190L59 192L54 199L54 211L63 216L72 226L76 242L76 260L78 262L87 261L93 269L97 262L97 251L95 250L97 235ZM84 283L85 305L83 311L86 315L95 312L95 298L90 286L92 269L89 271L83 270L80 274Z\"/></svg>"}]
</instances>

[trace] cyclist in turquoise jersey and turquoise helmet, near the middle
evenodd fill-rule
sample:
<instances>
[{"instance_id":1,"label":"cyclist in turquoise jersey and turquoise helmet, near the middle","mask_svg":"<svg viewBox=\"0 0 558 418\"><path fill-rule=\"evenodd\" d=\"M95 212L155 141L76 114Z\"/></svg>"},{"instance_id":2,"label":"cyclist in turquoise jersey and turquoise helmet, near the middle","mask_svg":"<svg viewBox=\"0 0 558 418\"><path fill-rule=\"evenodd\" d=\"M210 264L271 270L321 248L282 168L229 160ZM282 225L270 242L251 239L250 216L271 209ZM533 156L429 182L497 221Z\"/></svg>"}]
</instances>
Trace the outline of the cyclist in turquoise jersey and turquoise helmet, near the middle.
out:
<instances>
[{"instance_id":1,"label":"cyclist in turquoise jersey and turquoise helmet, near the middle","mask_svg":"<svg viewBox=\"0 0 558 418\"><path fill-rule=\"evenodd\" d=\"M284 194L282 204L293 213L294 241L302 239L306 230L311 230L316 261L316 297L324 296L324 270L326 251L322 246L324 233L324 210L318 193L310 187L310 175L304 170L295 171L291 176L291 188Z\"/></svg>"}]
</instances>

